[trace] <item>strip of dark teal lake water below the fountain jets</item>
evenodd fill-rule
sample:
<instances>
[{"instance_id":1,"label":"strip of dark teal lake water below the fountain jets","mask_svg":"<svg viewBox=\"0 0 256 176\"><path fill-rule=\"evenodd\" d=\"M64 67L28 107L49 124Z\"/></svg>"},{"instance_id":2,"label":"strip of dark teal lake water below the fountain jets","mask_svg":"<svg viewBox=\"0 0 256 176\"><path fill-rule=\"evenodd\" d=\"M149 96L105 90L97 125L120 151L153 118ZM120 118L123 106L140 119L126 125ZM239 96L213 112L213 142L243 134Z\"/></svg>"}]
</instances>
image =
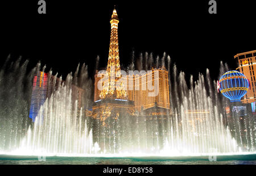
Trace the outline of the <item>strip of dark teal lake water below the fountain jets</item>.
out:
<instances>
[{"instance_id":1,"label":"strip of dark teal lake water below the fountain jets","mask_svg":"<svg viewBox=\"0 0 256 176\"><path fill-rule=\"evenodd\" d=\"M46 157L38 161L38 156L0 155L0 165L256 165L256 154L240 156L217 156L210 162L208 156L199 157Z\"/></svg>"}]
</instances>

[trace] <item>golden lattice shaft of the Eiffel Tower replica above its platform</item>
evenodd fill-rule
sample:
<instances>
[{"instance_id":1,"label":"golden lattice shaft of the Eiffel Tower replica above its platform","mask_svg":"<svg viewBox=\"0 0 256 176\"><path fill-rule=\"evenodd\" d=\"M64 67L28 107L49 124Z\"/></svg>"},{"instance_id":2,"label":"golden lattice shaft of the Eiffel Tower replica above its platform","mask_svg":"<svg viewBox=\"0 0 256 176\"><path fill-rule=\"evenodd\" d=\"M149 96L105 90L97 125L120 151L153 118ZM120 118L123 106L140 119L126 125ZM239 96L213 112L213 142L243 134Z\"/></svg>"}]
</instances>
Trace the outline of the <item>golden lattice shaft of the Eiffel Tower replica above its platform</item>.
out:
<instances>
[{"instance_id":1,"label":"golden lattice shaft of the Eiffel Tower replica above its platform","mask_svg":"<svg viewBox=\"0 0 256 176\"><path fill-rule=\"evenodd\" d=\"M109 59L106 70L109 76L109 80L108 83L104 85L104 89L101 91L101 98L126 98L126 91L123 90L123 83L121 82L117 32L118 23L119 19L117 16L117 11L114 8L110 19L111 35L109 45Z\"/></svg>"}]
</instances>

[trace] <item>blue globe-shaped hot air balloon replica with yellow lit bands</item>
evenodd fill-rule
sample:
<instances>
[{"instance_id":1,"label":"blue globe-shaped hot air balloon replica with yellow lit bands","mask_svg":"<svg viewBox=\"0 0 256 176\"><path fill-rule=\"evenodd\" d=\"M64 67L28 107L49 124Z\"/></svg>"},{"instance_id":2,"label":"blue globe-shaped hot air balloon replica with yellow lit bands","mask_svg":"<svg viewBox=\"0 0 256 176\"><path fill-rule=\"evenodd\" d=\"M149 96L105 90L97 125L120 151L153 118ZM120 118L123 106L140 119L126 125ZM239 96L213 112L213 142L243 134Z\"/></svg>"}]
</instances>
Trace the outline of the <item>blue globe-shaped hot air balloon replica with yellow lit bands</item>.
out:
<instances>
[{"instance_id":1,"label":"blue globe-shaped hot air balloon replica with yellow lit bands","mask_svg":"<svg viewBox=\"0 0 256 176\"><path fill-rule=\"evenodd\" d=\"M244 74L232 70L224 73L217 82L218 89L230 102L240 102L250 86Z\"/></svg>"}]
</instances>

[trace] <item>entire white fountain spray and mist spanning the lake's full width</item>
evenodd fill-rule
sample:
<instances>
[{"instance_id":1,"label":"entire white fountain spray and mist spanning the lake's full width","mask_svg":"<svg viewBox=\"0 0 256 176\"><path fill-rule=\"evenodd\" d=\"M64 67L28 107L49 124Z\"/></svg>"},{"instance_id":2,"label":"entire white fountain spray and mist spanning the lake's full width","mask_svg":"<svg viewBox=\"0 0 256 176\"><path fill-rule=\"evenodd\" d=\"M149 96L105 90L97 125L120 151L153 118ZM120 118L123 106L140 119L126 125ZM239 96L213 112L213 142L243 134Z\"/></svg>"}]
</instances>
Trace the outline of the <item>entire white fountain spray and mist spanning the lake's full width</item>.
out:
<instances>
[{"instance_id":1,"label":"entire white fountain spray and mist spanning the lake's full width","mask_svg":"<svg viewBox=\"0 0 256 176\"><path fill-rule=\"evenodd\" d=\"M99 60L97 57L97 63ZM199 73L196 79L191 76L188 81L185 72L178 72L173 62L166 53L155 58L152 53L145 53L136 60L133 52L127 67L149 70L164 66L169 71L171 115L151 118L121 115L118 119L108 118L107 123L111 125L104 127L100 120L86 117L86 110L92 107L93 82L85 64L68 74L65 82L56 81L57 74L52 76L54 91L32 123L28 118L32 79L39 70L44 72L46 68L38 63L27 70L28 61L19 58L10 62L7 58L0 70L0 151L64 156L255 152L255 124L247 119L247 141L242 140L241 122L233 119L231 123L226 118L224 107L229 101L217 93L210 71ZM221 62L220 75L228 70ZM51 70L49 75L52 75ZM81 108L77 108L78 99L73 98L72 85L85 90ZM243 149L244 145L247 150Z\"/></svg>"}]
</instances>

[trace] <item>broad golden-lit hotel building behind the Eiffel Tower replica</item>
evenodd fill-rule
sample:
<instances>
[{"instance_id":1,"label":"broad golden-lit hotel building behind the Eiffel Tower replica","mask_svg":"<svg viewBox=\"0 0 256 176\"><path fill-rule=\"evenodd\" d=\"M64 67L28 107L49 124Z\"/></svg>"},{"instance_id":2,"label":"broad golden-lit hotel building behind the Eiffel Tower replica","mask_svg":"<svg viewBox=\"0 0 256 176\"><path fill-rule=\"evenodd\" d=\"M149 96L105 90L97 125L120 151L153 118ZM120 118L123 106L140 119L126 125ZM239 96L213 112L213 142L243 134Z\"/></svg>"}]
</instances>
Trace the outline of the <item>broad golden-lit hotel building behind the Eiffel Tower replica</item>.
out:
<instances>
[{"instance_id":1,"label":"broad golden-lit hotel building behind the Eiffel Tower replica","mask_svg":"<svg viewBox=\"0 0 256 176\"><path fill-rule=\"evenodd\" d=\"M165 68L153 68L150 71L151 72L145 74L134 74L130 77L129 75L126 76L126 98L134 101L135 110L137 110L138 112L154 106L162 107L169 110L170 93L168 71ZM102 99L100 97L101 91L97 87L98 81L102 79L102 77L98 77L97 73L98 72L96 72L94 83L94 102ZM157 83L158 85L154 85L153 87L151 87L151 83L152 86L154 85L154 83ZM150 95L153 92L155 94Z\"/></svg>"}]
</instances>

